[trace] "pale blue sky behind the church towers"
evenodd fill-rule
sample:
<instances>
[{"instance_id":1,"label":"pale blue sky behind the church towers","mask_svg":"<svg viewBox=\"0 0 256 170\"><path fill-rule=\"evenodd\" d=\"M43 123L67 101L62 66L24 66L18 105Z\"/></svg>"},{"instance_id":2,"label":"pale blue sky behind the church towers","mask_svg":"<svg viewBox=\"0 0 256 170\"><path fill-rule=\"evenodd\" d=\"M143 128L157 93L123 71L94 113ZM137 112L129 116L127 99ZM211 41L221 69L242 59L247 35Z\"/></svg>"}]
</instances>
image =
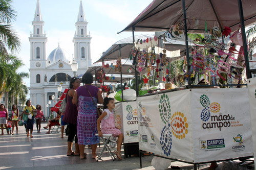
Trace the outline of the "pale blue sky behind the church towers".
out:
<instances>
[{"instance_id":1,"label":"pale blue sky behind the church towers","mask_svg":"<svg viewBox=\"0 0 256 170\"><path fill-rule=\"evenodd\" d=\"M18 34L22 45L20 52L15 54L26 64L20 71L29 72L30 42L28 37L33 29L37 0L13 0L12 6L17 12L13 29ZM91 40L91 58L96 61L116 41L132 36L132 32L117 32L124 29L136 16L150 4L152 0L83 0L83 10L88 23ZM72 57L80 0L40 0L42 20L45 21L44 31L48 37L46 57L58 46L64 48ZM141 34L141 33L135 33ZM30 86L30 79L24 80Z\"/></svg>"}]
</instances>

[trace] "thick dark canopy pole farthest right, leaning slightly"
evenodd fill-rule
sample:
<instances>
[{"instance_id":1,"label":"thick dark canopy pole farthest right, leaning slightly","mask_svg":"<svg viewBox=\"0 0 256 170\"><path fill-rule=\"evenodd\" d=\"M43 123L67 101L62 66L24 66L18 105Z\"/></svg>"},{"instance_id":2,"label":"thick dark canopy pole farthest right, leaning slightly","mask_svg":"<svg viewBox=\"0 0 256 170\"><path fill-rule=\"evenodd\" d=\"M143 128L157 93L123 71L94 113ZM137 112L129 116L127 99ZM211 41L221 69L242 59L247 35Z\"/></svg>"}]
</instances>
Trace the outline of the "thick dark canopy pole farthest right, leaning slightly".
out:
<instances>
[{"instance_id":1,"label":"thick dark canopy pole farthest right, leaning slightly","mask_svg":"<svg viewBox=\"0 0 256 170\"><path fill-rule=\"evenodd\" d=\"M244 60L245 60L245 70L246 70L246 78L250 79L250 66L249 66L249 59L248 59L248 49L247 49L247 41L246 41L246 33L245 33L245 26L244 26L244 13L243 13L243 5L242 1L238 0L238 8L239 8L239 16L240 16L240 23L241 23L241 32L243 38L243 47L244 47Z\"/></svg>"}]
</instances>

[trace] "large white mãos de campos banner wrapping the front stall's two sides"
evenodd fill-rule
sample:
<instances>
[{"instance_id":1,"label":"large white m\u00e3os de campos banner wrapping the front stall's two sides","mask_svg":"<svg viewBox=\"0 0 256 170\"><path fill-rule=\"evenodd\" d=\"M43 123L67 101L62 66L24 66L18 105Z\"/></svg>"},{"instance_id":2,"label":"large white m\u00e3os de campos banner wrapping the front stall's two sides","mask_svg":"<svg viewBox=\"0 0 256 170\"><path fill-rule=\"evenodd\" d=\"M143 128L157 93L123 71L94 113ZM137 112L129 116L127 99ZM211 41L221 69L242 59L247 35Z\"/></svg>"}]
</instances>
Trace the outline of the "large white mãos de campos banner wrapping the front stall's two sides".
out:
<instances>
[{"instance_id":1,"label":"large white m\u00e3os de campos banner wrapping the front stall's two sides","mask_svg":"<svg viewBox=\"0 0 256 170\"><path fill-rule=\"evenodd\" d=\"M142 96L137 109L140 150L193 163L252 155L246 88Z\"/></svg>"}]
</instances>

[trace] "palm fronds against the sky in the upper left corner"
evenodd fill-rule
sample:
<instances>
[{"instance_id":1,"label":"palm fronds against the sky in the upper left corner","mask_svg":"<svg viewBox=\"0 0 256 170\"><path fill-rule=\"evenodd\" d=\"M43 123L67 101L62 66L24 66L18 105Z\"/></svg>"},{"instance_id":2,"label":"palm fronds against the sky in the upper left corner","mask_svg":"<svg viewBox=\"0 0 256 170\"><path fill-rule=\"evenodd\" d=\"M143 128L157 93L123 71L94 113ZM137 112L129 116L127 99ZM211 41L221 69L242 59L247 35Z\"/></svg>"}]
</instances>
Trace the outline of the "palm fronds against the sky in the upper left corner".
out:
<instances>
[{"instance_id":1,"label":"palm fronds against the sky in the upper left corner","mask_svg":"<svg viewBox=\"0 0 256 170\"><path fill-rule=\"evenodd\" d=\"M16 19L11 2L12 0L0 0L0 54L5 57L8 57L6 46L11 52L18 51L20 46L19 38L10 25Z\"/></svg>"}]
</instances>

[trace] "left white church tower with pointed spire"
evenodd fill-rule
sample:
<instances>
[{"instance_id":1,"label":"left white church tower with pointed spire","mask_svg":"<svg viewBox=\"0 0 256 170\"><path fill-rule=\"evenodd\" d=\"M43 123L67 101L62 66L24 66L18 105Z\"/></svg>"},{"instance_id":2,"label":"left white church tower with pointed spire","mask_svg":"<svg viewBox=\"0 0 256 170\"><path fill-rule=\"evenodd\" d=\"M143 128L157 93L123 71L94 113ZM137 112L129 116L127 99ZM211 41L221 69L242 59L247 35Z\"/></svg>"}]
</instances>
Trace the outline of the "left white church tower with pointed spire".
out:
<instances>
[{"instance_id":1,"label":"left white church tower with pointed spire","mask_svg":"<svg viewBox=\"0 0 256 170\"><path fill-rule=\"evenodd\" d=\"M36 3L35 16L32 21L33 33L30 32L30 84L44 82L40 68L46 67L46 34L43 34L44 21L42 21L39 0Z\"/></svg>"}]
</instances>

